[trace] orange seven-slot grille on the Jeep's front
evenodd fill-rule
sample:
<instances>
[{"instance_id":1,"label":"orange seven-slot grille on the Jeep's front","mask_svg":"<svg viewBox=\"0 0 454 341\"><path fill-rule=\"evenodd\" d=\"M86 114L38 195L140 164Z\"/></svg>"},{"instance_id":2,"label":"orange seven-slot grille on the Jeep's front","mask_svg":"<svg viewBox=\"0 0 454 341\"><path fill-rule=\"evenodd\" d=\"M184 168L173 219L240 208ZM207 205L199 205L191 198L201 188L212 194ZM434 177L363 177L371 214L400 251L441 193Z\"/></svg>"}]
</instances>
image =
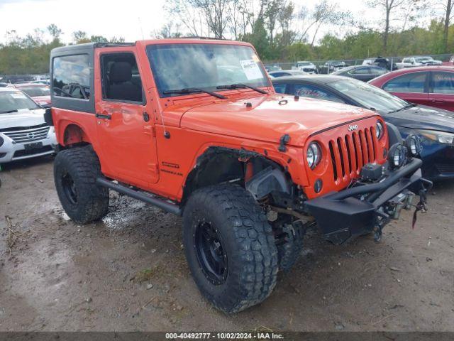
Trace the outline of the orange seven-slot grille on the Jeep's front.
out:
<instances>
[{"instance_id":1,"label":"orange seven-slot grille on the Jeep's front","mask_svg":"<svg viewBox=\"0 0 454 341\"><path fill-rule=\"evenodd\" d=\"M329 141L328 145L336 182L356 177L362 166L377 160L378 141L374 126L345 134Z\"/></svg>"}]
</instances>

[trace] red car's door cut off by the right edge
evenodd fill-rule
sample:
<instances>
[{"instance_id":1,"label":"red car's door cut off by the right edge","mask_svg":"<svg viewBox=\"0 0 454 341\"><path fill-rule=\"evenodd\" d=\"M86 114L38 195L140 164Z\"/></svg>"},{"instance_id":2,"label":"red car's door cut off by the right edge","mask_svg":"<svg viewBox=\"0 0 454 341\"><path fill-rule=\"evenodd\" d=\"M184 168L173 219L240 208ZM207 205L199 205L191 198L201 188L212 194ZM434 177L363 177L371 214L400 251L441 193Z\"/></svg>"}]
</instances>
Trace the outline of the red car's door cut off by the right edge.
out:
<instances>
[{"instance_id":1,"label":"red car's door cut off by the right edge","mask_svg":"<svg viewBox=\"0 0 454 341\"><path fill-rule=\"evenodd\" d=\"M454 72L431 72L428 99L431 107L454 112Z\"/></svg>"}]
</instances>

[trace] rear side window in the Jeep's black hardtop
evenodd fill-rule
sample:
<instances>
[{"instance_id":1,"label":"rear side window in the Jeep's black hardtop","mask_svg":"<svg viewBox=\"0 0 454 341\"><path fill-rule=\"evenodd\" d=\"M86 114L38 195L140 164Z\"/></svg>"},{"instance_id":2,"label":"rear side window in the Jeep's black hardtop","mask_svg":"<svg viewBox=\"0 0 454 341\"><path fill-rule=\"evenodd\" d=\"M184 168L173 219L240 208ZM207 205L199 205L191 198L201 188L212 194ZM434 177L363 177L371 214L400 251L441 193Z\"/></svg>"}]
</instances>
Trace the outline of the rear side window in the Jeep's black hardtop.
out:
<instances>
[{"instance_id":1,"label":"rear side window in the Jeep's black hardtop","mask_svg":"<svg viewBox=\"0 0 454 341\"><path fill-rule=\"evenodd\" d=\"M52 61L52 92L54 96L89 99L89 55L64 55Z\"/></svg>"}]
</instances>

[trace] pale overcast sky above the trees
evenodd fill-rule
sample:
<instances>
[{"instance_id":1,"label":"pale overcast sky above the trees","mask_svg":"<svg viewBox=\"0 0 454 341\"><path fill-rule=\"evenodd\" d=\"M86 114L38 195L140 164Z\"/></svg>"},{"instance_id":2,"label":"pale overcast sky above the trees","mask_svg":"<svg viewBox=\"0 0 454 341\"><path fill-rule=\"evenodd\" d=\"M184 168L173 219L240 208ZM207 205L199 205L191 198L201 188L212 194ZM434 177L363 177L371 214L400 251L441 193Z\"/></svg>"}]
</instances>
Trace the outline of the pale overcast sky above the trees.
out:
<instances>
[{"instance_id":1,"label":"pale overcast sky above the trees","mask_svg":"<svg viewBox=\"0 0 454 341\"><path fill-rule=\"evenodd\" d=\"M294 0L297 9L311 7L319 0ZM69 43L72 32L86 31L89 36L106 38L122 36L126 41L150 38L166 22L162 9L166 0L0 0L0 41L6 31L16 30L20 36L55 23L62 29L62 40ZM338 0L343 10L358 18L375 21L379 11L367 9L362 0ZM336 33L342 32L336 28ZM321 36L321 35L320 35ZM319 36L319 37L320 37Z\"/></svg>"}]
</instances>

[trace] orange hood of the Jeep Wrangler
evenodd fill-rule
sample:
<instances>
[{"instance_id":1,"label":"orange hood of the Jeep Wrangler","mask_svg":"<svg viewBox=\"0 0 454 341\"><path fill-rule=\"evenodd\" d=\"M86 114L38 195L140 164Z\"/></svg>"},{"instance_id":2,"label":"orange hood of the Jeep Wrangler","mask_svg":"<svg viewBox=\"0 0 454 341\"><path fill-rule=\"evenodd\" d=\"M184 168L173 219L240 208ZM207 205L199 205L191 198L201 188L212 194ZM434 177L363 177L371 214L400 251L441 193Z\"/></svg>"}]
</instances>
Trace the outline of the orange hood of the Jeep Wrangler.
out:
<instances>
[{"instance_id":1,"label":"orange hood of the Jeep Wrangler","mask_svg":"<svg viewBox=\"0 0 454 341\"><path fill-rule=\"evenodd\" d=\"M250 103L248 107L246 103ZM310 134L350 121L377 116L346 104L287 95L260 96L237 101L216 101L184 112L180 126L212 134L303 146Z\"/></svg>"}]
</instances>

